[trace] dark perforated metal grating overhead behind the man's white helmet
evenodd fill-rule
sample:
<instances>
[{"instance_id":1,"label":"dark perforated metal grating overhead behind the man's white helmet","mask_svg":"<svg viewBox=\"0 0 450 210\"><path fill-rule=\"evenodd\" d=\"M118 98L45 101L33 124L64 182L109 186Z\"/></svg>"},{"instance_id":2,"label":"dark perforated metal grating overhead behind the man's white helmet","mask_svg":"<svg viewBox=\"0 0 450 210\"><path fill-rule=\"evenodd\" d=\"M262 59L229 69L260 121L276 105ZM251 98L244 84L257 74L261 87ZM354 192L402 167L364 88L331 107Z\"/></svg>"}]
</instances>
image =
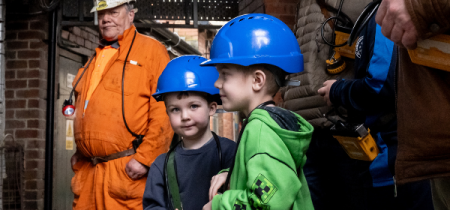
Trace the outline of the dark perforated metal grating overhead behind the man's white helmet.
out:
<instances>
[{"instance_id":1,"label":"dark perforated metal grating overhead behind the man's white helmet","mask_svg":"<svg viewBox=\"0 0 450 210\"><path fill-rule=\"evenodd\" d=\"M239 14L238 0L197 0L198 20L227 21ZM185 20L186 14L193 20L193 0L138 0L136 19ZM93 18L92 0L63 0L63 16L66 18ZM82 10L80 13L80 9Z\"/></svg>"}]
</instances>

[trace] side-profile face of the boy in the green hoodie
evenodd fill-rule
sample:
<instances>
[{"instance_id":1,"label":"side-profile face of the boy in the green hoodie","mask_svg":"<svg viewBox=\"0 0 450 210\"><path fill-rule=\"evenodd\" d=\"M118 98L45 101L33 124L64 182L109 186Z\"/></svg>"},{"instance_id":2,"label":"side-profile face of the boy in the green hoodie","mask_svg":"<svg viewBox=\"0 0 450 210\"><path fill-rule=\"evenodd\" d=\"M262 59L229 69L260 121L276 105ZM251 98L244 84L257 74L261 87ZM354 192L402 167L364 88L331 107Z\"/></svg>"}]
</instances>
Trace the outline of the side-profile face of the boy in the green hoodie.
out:
<instances>
[{"instance_id":1,"label":"side-profile face of the boy in the green hoodie","mask_svg":"<svg viewBox=\"0 0 450 210\"><path fill-rule=\"evenodd\" d=\"M252 77L239 71L237 65L221 64L216 68L219 78L214 87L220 90L223 108L226 111L248 109L252 96Z\"/></svg>"}]
</instances>

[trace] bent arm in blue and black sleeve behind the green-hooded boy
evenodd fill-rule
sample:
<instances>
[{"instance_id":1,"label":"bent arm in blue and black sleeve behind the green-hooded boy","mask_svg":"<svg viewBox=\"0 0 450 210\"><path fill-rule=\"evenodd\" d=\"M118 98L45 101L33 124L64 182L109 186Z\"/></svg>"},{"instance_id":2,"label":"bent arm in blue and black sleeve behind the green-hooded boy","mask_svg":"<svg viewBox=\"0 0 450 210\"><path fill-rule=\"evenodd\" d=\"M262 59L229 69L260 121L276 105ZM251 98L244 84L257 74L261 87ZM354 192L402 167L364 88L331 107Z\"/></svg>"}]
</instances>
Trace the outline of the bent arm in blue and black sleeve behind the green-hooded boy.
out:
<instances>
[{"instance_id":1,"label":"bent arm in blue and black sleeve behind the green-hooded boy","mask_svg":"<svg viewBox=\"0 0 450 210\"><path fill-rule=\"evenodd\" d=\"M393 107L395 96L392 84L394 77L393 72L389 70L393 65L391 61L394 44L381 34L380 26L376 27L373 54L365 77L337 80L334 83L326 84L326 87L330 88L329 101L334 106L343 106L367 114L379 113Z\"/></svg>"}]
</instances>

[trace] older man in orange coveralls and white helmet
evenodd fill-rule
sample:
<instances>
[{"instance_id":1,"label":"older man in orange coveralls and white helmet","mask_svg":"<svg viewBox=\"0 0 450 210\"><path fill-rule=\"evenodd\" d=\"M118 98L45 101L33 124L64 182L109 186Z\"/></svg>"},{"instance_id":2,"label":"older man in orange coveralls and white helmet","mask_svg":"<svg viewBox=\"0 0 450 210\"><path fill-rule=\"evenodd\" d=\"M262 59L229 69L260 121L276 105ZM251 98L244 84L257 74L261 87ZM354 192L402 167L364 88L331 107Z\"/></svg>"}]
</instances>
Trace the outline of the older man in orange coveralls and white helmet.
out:
<instances>
[{"instance_id":1,"label":"older man in orange coveralls and white helmet","mask_svg":"<svg viewBox=\"0 0 450 210\"><path fill-rule=\"evenodd\" d=\"M134 1L97 0L91 11L98 11L103 39L73 83L81 77L75 88L73 209L142 209L148 168L173 136L164 104L152 97L169 55L136 32Z\"/></svg>"}]
</instances>

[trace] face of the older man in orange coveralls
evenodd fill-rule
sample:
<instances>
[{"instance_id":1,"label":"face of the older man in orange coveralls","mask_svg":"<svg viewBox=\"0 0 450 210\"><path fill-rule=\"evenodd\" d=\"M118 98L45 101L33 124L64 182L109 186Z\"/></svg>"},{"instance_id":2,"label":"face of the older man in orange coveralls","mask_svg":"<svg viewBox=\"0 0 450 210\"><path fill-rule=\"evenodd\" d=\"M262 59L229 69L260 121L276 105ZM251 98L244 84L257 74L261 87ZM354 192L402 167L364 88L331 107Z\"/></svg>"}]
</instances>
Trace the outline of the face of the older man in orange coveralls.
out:
<instances>
[{"instance_id":1,"label":"face of the older man in orange coveralls","mask_svg":"<svg viewBox=\"0 0 450 210\"><path fill-rule=\"evenodd\" d=\"M133 20L134 11L128 12L125 5L98 11L98 26L106 41L117 40L130 28Z\"/></svg>"}]
</instances>

